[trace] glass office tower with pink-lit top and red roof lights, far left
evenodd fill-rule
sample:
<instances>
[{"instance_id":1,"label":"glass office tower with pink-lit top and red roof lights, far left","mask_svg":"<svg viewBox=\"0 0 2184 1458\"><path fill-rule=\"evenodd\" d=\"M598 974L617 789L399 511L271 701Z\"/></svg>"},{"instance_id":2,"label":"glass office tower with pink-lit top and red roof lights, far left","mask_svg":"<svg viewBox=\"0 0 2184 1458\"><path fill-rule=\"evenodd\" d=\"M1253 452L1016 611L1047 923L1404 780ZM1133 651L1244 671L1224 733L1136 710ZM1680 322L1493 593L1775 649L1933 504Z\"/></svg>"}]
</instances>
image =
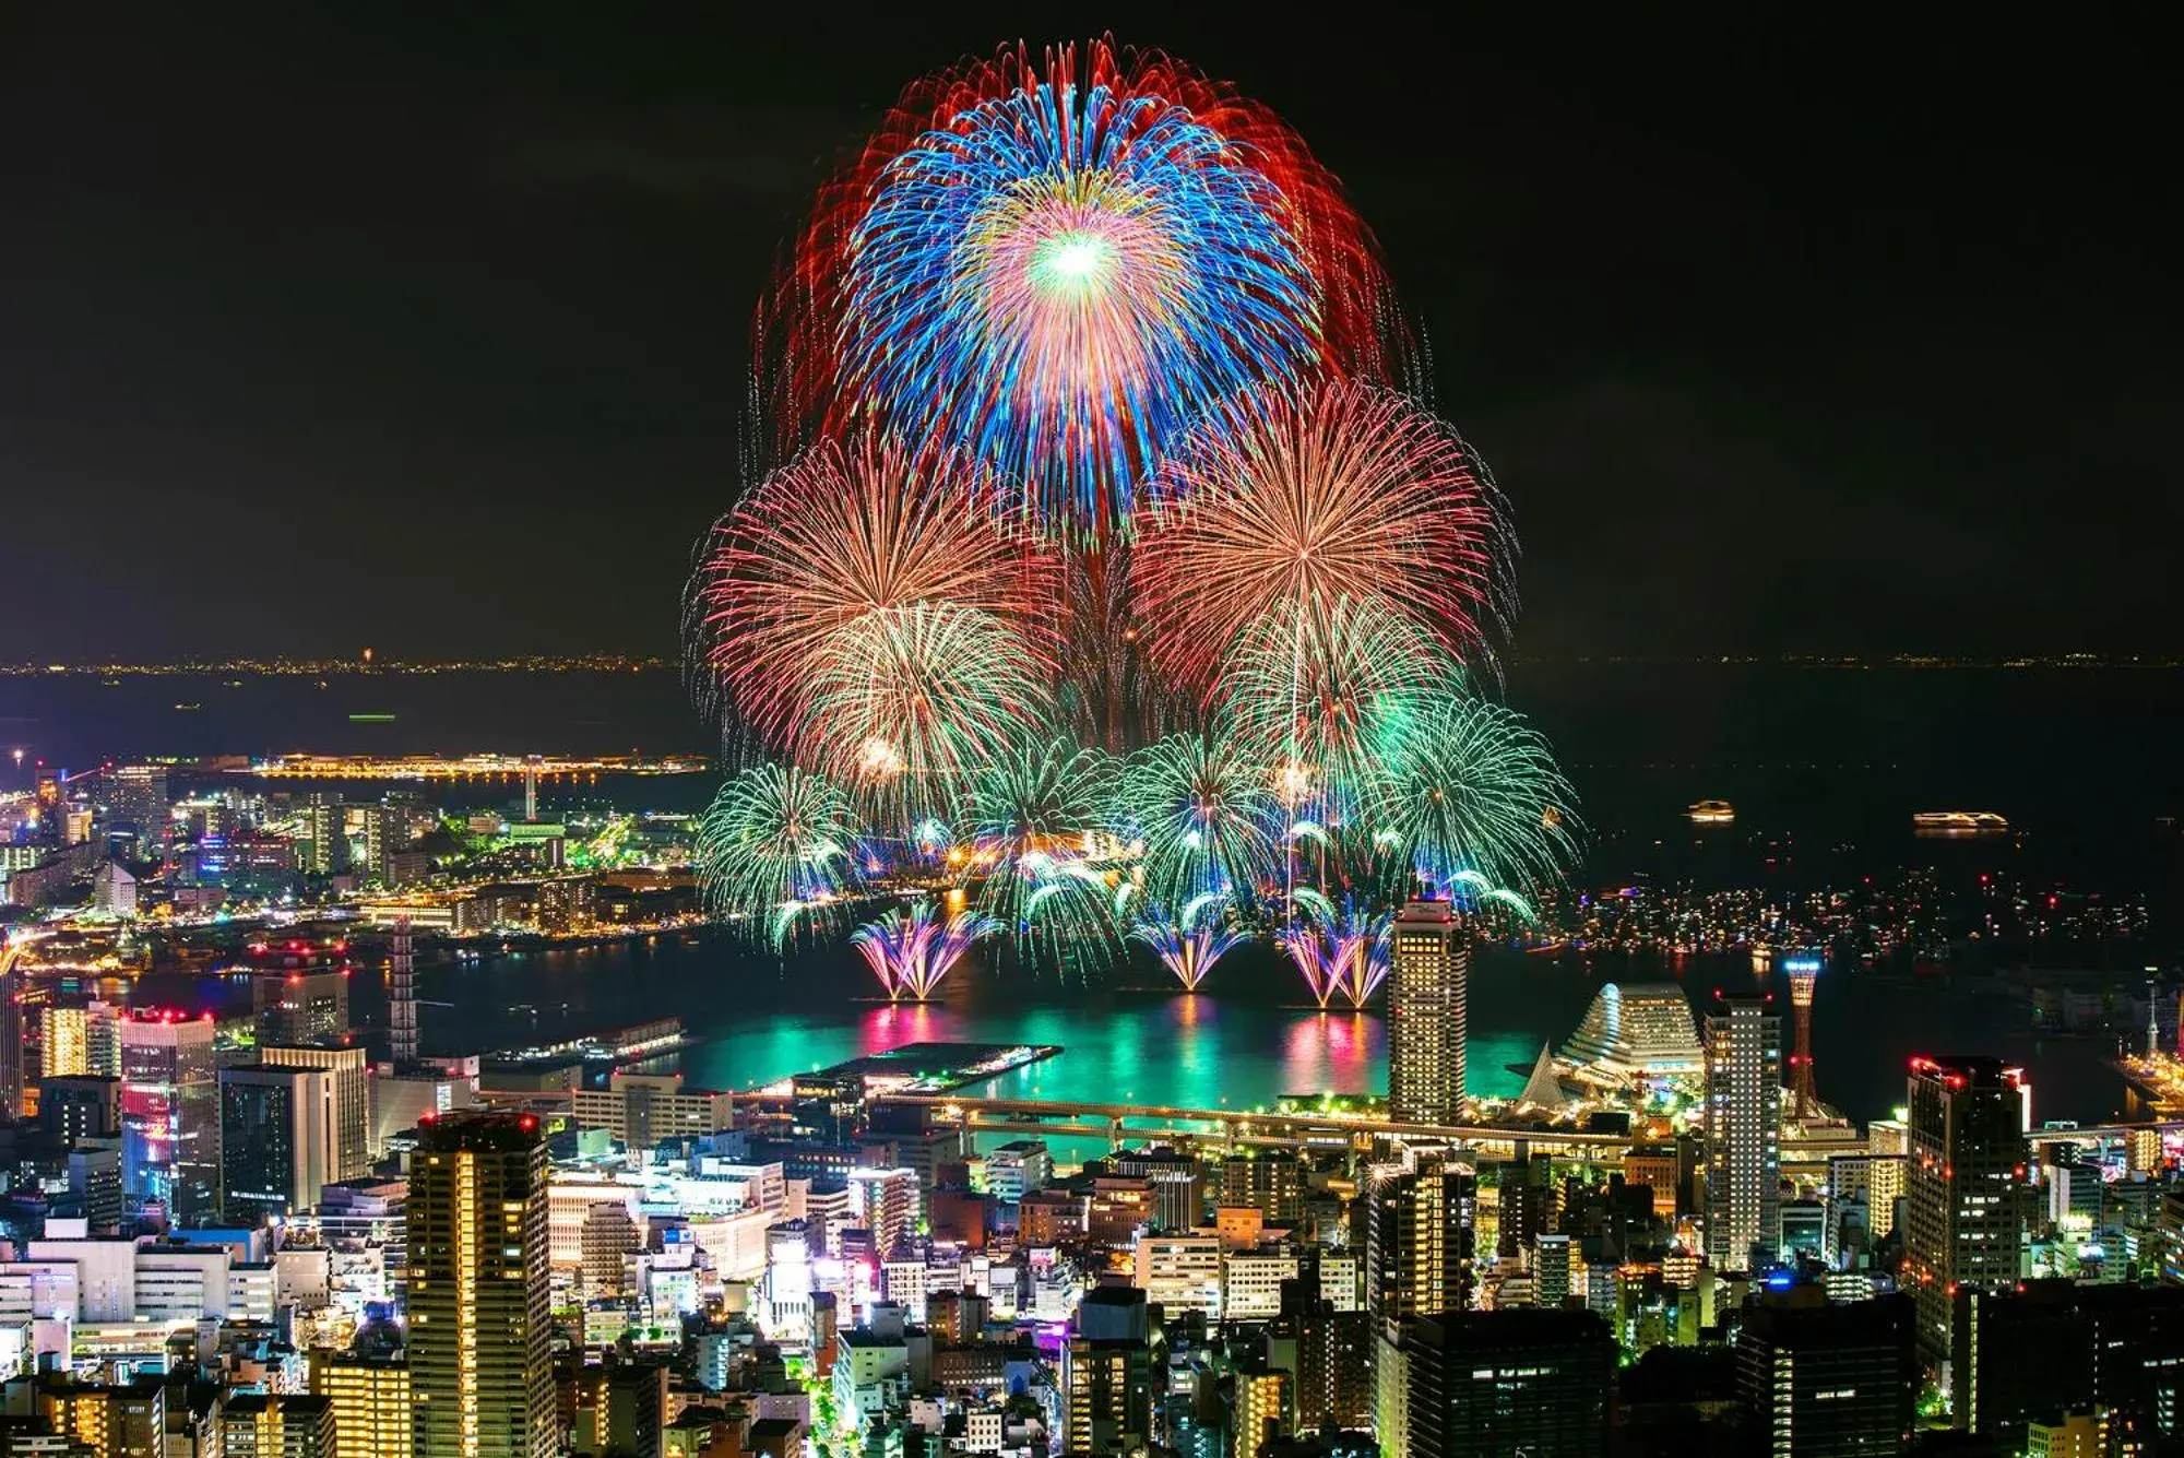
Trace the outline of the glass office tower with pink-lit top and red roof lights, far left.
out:
<instances>
[{"instance_id":1,"label":"glass office tower with pink-lit top and red roof lights, far left","mask_svg":"<svg viewBox=\"0 0 2184 1458\"><path fill-rule=\"evenodd\" d=\"M122 1183L175 1224L207 1220L221 1194L221 1085L212 1019L142 1013L120 1024Z\"/></svg>"}]
</instances>

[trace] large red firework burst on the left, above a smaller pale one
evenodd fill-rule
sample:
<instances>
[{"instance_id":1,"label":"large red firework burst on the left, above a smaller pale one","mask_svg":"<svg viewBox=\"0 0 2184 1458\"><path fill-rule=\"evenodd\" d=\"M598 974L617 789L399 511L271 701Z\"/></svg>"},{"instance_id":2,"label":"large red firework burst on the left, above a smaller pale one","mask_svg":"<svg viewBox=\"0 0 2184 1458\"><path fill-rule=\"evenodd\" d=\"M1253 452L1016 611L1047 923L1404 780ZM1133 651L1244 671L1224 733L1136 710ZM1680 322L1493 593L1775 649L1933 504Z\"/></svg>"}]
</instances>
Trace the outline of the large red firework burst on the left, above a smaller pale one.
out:
<instances>
[{"instance_id":1,"label":"large red firework burst on the left, above a smaller pale one","mask_svg":"<svg viewBox=\"0 0 2184 1458\"><path fill-rule=\"evenodd\" d=\"M841 738L812 712L812 674L858 648L978 624L1016 679L1053 672L1053 559L998 513L998 487L957 456L913 458L860 437L819 443L714 526L697 581L703 666L762 740L812 762Z\"/></svg>"}]
</instances>

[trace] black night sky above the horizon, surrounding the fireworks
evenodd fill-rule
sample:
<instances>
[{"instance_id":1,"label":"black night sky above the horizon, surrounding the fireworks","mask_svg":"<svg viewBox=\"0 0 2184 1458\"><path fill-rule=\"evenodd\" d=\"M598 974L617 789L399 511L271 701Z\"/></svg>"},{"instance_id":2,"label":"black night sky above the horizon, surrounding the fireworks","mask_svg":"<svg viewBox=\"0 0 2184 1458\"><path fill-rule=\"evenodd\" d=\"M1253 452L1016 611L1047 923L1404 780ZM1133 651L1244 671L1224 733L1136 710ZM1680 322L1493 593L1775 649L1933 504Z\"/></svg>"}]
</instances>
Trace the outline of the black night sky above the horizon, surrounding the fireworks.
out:
<instances>
[{"instance_id":1,"label":"black night sky above the horizon, surrounding the fireworks","mask_svg":"<svg viewBox=\"0 0 2184 1458\"><path fill-rule=\"evenodd\" d=\"M2184 646L2136 22L286 9L0 22L0 659L673 650L810 188L904 79L1103 28L1345 179L1520 653Z\"/></svg>"}]
</instances>

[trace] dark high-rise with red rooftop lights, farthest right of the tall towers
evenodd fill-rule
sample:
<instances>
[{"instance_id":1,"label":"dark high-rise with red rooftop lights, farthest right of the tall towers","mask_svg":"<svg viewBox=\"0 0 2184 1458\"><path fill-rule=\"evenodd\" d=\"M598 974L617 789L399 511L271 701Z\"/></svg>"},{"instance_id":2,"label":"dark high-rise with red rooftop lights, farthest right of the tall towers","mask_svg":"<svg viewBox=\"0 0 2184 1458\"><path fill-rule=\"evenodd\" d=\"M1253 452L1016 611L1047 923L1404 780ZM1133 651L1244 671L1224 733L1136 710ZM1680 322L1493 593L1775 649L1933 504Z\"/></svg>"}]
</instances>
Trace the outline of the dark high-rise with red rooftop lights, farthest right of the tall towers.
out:
<instances>
[{"instance_id":1,"label":"dark high-rise with red rooftop lights, farthest right of the tall towers","mask_svg":"<svg viewBox=\"0 0 2184 1458\"><path fill-rule=\"evenodd\" d=\"M2027 1159L2014 1067L1911 1061L1904 1279L1918 1294L1920 1353L1933 1366L1950 1355L1955 1294L2016 1286L2022 1272Z\"/></svg>"}]
</instances>

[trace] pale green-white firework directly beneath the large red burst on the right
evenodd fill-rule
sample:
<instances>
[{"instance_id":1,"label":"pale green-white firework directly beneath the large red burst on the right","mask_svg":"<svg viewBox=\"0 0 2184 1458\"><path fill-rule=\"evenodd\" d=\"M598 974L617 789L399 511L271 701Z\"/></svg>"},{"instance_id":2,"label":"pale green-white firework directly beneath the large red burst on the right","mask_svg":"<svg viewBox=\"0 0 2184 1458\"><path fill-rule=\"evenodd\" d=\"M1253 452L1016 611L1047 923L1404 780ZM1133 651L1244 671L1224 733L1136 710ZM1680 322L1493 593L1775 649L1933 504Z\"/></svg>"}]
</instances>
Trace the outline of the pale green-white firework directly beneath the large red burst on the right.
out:
<instances>
[{"instance_id":1,"label":"pale green-white firework directly beneath the large red burst on the right","mask_svg":"<svg viewBox=\"0 0 2184 1458\"><path fill-rule=\"evenodd\" d=\"M1267 766L1291 818L1326 836L1356 823L1409 725L1448 692L1450 664L1402 613L1337 598L1243 631L1214 685L1214 722Z\"/></svg>"}]
</instances>

